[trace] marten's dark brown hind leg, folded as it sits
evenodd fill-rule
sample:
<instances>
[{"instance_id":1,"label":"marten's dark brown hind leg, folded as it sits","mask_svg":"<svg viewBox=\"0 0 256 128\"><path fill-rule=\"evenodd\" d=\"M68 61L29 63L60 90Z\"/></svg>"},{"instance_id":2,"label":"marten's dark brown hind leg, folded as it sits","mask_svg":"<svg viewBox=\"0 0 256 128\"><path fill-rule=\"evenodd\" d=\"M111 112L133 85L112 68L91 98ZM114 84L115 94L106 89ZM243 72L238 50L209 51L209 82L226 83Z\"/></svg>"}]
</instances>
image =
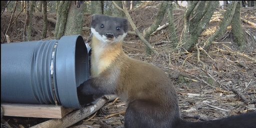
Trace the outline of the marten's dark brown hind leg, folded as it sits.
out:
<instances>
[{"instance_id":1,"label":"marten's dark brown hind leg, folded as it sits","mask_svg":"<svg viewBox=\"0 0 256 128\"><path fill-rule=\"evenodd\" d=\"M128 104L124 128L171 128L166 112L152 101L134 100Z\"/></svg>"}]
</instances>

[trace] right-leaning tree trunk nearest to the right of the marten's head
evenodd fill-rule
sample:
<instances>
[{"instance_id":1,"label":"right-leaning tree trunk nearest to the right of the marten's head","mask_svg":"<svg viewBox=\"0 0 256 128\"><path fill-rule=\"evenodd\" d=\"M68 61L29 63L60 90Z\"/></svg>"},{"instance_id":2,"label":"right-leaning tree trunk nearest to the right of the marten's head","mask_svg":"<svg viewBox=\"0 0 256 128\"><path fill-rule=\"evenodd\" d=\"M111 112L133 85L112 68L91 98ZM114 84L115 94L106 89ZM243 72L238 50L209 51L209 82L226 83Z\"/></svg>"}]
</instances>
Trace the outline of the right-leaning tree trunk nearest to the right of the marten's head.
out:
<instances>
[{"instance_id":1,"label":"right-leaning tree trunk nearest to the right of the marten's head","mask_svg":"<svg viewBox=\"0 0 256 128\"><path fill-rule=\"evenodd\" d=\"M149 40L150 34L153 33L162 22L162 19L167 9L167 5L168 5L168 1L162 1L153 24L150 27L144 29L143 36L147 41ZM151 55L151 49L148 48L147 46L145 46L145 54Z\"/></svg>"}]
</instances>

